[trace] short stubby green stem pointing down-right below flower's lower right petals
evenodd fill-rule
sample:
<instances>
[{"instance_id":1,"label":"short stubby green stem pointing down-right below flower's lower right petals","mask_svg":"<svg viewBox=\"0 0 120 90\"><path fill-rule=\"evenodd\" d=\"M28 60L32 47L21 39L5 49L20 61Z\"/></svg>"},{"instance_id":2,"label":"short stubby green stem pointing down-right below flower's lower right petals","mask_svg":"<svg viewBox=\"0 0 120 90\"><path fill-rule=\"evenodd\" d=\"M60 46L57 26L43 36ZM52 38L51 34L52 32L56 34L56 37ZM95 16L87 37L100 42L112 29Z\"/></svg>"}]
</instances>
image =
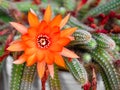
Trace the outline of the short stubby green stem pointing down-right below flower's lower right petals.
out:
<instances>
[{"instance_id":1,"label":"short stubby green stem pointing down-right below flower's lower right petals","mask_svg":"<svg viewBox=\"0 0 120 90\"><path fill-rule=\"evenodd\" d=\"M88 77L83 65L77 59L72 59L72 61L68 61L66 59L65 62L69 71L73 74L75 79L77 79L81 85L84 85L88 81Z\"/></svg>"}]
</instances>

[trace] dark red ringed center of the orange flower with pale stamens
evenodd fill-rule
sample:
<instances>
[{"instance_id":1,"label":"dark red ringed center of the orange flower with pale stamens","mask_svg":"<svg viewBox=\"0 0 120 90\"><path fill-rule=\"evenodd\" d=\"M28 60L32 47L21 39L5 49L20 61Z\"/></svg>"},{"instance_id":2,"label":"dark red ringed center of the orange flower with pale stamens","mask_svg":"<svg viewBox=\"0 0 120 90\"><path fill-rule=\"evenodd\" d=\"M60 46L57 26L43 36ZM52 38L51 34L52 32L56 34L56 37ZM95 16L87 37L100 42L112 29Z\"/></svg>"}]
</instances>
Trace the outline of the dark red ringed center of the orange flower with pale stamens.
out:
<instances>
[{"instance_id":1,"label":"dark red ringed center of the orange flower with pale stamens","mask_svg":"<svg viewBox=\"0 0 120 90\"><path fill-rule=\"evenodd\" d=\"M50 40L47 35L39 35L37 37L37 44L40 48L48 48L50 45Z\"/></svg>"}]
</instances>

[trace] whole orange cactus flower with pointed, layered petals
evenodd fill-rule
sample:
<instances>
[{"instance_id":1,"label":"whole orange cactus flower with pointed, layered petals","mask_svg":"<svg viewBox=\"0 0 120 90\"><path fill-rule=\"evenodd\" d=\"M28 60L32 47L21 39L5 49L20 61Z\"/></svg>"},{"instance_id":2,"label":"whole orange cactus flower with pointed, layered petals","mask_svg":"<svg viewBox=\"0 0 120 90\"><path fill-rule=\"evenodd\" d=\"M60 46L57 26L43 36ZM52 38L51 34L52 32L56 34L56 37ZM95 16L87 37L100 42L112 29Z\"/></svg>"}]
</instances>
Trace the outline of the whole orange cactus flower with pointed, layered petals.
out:
<instances>
[{"instance_id":1,"label":"whole orange cactus flower with pointed, layered petals","mask_svg":"<svg viewBox=\"0 0 120 90\"><path fill-rule=\"evenodd\" d=\"M51 7L48 6L43 20L39 21L37 15L31 9L28 13L30 24L28 28L19 23L10 22L21 33L21 38L13 41L7 50L24 51L13 63L22 64L26 62L27 66L37 63L37 71L40 78L43 77L46 66L51 77L54 76L54 63L65 67L65 62L61 55L79 58L74 52L64 47L73 40L71 35L77 29L74 27L61 30L70 15L68 14L64 19L62 19L61 15L57 15L51 20L51 13Z\"/></svg>"}]
</instances>

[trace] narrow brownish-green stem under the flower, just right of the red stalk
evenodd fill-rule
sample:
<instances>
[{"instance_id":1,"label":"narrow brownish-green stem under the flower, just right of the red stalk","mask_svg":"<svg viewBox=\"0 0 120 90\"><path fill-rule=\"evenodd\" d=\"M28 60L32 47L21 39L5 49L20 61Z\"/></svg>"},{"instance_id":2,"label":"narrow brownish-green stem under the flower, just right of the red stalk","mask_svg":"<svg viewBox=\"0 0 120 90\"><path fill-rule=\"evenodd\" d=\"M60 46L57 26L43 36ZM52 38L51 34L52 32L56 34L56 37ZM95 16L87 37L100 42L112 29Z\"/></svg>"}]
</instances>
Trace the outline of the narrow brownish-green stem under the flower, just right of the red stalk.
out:
<instances>
[{"instance_id":1,"label":"narrow brownish-green stem under the flower, just right of the red stalk","mask_svg":"<svg viewBox=\"0 0 120 90\"><path fill-rule=\"evenodd\" d=\"M58 67L54 65L54 78L49 77L50 90L61 90Z\"/></svg>"}]
</instances>

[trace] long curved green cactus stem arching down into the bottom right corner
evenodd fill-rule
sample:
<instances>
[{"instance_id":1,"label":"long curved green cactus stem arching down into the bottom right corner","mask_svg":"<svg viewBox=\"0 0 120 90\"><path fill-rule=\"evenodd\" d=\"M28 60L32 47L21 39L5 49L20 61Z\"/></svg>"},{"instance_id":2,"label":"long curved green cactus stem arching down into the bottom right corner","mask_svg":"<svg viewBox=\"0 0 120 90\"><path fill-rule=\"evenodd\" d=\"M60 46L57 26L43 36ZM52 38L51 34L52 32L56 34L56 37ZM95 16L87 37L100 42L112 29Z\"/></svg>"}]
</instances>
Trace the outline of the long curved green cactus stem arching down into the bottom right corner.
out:
<instances>
[{"instance_id":1,"label":"long curved green cactus stem arching down into the bottom right corner","mask_svg":"<svg viewBox=\"0 0 120 90\"><path fill-rule=\"evenodd\" d=\"M97 48L94 51L91 51L91 55L93 59L104 69L112 90L119 90L120 80L118 79L116 69L113 66L113 62L108 52L104 49Z\"/></svg>"}]
</instances>

